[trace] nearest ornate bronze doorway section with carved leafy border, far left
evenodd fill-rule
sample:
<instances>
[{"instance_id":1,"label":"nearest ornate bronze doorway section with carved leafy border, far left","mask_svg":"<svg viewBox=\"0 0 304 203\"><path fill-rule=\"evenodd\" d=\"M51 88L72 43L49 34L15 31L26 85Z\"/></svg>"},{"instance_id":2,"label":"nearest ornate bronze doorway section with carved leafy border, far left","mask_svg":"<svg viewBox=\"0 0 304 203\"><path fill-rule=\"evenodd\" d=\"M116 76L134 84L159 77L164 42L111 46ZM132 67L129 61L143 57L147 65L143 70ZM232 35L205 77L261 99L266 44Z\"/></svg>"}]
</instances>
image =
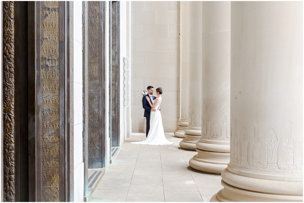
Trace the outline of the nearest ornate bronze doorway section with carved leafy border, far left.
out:
<instances>
[{"instance_id":1,"label":"nearest ornate bronze doorway section with carved leafy border, far left","mask_svg":"<svg viewBox=\"0 0 304 203\"><path fill-rule=\"evenodd\" d=\"M4 200L73 201L73 3L3 5Z\"/></svg>"}]
</instances>

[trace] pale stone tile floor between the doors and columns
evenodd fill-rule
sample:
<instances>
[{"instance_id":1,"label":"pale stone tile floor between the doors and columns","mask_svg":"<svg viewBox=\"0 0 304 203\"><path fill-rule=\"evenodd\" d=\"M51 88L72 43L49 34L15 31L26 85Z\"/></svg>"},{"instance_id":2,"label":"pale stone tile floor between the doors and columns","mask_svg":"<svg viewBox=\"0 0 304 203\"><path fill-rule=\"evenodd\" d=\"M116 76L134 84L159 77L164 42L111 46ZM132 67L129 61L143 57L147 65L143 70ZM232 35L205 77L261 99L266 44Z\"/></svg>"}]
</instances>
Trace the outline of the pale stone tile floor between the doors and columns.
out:
<instances>
[{"instance_id":1,"label":"pale stone tile floor between the doors and columns","mask_svg":"<svg viewBox=\"0 0 304 203\"><path fill-rule=\"evenodd\" d=\"M182 150L182 138L165 133L172 145L137 145L145 133L127 138L89 201L202 202L223 188L219 175L189 167L196 151Z\"/></svg>"}]
</instances>

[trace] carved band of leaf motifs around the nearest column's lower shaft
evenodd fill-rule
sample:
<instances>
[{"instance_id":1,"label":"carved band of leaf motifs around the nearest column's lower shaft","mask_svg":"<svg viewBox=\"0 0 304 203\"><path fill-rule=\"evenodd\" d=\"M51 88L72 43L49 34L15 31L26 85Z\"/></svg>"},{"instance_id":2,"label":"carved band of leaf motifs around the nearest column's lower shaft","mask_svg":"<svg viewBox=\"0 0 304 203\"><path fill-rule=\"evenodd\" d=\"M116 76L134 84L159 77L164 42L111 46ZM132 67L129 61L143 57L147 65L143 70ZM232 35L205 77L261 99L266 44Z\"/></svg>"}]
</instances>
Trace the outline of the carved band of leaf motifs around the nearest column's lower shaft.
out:
<instances>
[{"instance_id":1,"label":"carved band of leaf motifs around the nearest column's lower shaft","mask_svg":"<svg viewBox=\"0 0 304 203\"><path fill-rule=\"evenodd\" d=\"M257 120L254 122L254 137L252 140L249 140L250 136L247 136L245 128L242 129L241 136L238 137L236 125L237 121L235 120L233 131L234 146L232 147L234 151L230 154L230 164L241 168L254 169L263 172L300 173L302 171L303 162L301 162L301 167L294 164L295 149L297 147L294 139L291 137L293 125L291 121L286 123L287 138L284 143L282 143L282 140L278 139L275 130L271 128L267 133L264 147L261 145L260 138L258 137L257 129L259 122ZM301 148L299 151L302 152L301 142L302 139L299 141L299 146ZM251 150L249 150L249 148L251 148ZM261 157L261 150L266 153L266 156ZM282 159L283 157L278 157L278 151L283 151L285 154L285 161L281 166L278 165L278 159ZM266 165L263 163L266 163Z\"/></svg>"}]
</instances>

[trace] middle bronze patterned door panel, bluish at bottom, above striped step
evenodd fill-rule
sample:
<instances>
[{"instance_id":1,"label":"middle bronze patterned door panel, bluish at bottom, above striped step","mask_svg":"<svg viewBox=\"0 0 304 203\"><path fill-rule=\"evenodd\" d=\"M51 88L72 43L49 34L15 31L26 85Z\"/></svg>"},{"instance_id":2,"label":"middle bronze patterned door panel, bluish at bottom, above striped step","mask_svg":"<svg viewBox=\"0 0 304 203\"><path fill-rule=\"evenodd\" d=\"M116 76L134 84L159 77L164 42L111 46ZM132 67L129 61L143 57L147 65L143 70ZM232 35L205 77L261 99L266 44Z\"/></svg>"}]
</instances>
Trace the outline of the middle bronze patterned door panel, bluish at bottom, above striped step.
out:
<instances>
[{"instance_id":1,"label":"middle bronze patterned door panel, bluish at bottom, above striped step","mask_svg":"<svg viewBox=\"0 0 304 203\"><path fill-rule=\"evenodd\" d=\"M102 168L105 167L106 150L105 2L89 1L87 4L88 168Z\"/></svg>"}]
</instances>

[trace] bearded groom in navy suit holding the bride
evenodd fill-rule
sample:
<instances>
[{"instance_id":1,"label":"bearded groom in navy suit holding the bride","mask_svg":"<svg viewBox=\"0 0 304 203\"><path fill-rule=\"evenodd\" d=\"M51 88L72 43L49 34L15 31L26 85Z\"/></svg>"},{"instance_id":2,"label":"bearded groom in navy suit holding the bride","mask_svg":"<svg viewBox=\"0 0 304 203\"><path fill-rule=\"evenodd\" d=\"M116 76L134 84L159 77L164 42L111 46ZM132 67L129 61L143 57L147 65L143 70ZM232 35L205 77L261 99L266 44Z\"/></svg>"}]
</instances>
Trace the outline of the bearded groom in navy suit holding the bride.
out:
<instances>
[{"instance_id":1,"label":"bearded groom in navy suit holding the bride","mask_svg":"<svg viewBox=\"0 0 304 203\"><path fill-rule=\"evenodd\" d=\"M147 91L148 91L147 96L150 98L151 104L153 104L153 101L155 100L155 97L153 96L154 88L152 86L148 86ZM150 113L151 111L157 111L157 110L151 108L149 102L147 101L146 96L143 96L142 103L143 103L143 108L145 109L143 117L146 117L146 137L147 137L150 130ZM160 110L159 107L158 110Z\"/></svg>"}]
</instances>

